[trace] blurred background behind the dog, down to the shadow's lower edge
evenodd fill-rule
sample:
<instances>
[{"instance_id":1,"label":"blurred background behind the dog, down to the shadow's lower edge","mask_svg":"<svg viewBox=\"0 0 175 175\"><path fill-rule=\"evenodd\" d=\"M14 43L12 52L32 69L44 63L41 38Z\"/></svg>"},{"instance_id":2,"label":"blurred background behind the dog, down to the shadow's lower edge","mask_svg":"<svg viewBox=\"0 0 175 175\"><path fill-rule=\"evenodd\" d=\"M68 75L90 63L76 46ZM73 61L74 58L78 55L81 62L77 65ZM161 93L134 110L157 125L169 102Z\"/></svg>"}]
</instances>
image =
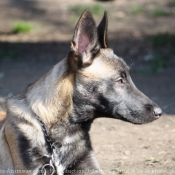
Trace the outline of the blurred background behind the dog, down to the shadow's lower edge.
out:
<instances>
[{"instance_id":1,"label":"blurred background behind the dog, down to the shadow's lower edge","mask_svg":"<svg viewBox=\"0 0 175 175\"><path fill-rule=\"evenodd\" d=\"M136 85L175 113L175 0L1 0L0 96L25 89L66 57L76 22L89 9L109 16L109 45Z\"/></svg>"}]
</instances>

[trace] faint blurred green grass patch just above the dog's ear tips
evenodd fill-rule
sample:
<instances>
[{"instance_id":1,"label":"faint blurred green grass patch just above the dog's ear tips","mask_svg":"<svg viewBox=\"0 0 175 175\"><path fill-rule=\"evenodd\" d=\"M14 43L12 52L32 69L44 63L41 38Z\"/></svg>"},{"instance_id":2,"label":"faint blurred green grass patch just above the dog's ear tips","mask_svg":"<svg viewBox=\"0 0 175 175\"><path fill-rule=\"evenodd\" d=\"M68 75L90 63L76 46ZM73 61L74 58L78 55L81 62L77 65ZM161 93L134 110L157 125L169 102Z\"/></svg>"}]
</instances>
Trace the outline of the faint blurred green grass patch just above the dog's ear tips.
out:
<instances>
[{"instance_id":1,"label":"faint blurred green grass patch just above the dog's ear tips","mask_svg":"<svg viewBox=\"0 0 175 175\"><path fill-rule=\"evenodd\" d=\"M69 10L75 13L76 15L80 15L85 10L89 10L93 15L102 15L104 13L105 8L100 4L92 6L76 5L72 6Z\"/></svg>"}]
</instances>

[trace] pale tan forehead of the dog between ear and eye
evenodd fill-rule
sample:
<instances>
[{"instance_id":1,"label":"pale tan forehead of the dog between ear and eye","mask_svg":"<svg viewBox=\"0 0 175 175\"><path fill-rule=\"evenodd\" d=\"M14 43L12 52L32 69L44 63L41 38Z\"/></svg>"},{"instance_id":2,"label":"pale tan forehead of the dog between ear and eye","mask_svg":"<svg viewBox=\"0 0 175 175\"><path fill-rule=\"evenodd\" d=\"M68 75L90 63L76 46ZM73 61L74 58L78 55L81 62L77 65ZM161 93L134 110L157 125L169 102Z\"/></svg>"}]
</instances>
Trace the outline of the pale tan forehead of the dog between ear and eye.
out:
<instances>
[{"instance_id":1,"label":"pale tan forehead of the dog between ear and eye","mask_svg":"<svg viewBox=\"0 0 175 175\"><path fill-rule=\"evenodd\" d=\"M128 71L128 66L114 54L111 49L101 49L93 63L83 70L86 77L107 78L116 77L121 72Z\"/></svg>"}]
</instances>

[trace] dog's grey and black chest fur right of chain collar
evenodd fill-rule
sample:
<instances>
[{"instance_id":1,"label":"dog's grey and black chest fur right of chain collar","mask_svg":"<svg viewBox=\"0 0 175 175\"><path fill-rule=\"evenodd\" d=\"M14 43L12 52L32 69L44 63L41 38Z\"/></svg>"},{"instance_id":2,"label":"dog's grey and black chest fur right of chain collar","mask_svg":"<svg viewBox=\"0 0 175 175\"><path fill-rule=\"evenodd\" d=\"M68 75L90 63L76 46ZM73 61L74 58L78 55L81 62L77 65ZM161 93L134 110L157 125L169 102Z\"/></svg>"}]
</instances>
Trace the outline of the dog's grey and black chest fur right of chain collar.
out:
<instances>
[{"instance_id":1,"label":"dog's grey and black chest fur right of chain collar","mask_svg":"<svg viewBox=\"0 0 175 175\"><path fill-rule=\"evenodd\" d=\"M57 169L75 166L77 161L91 149L89 134L81 124L58 124L51 129L52 142L56 149Z\"/></svg>"}]
</instances>

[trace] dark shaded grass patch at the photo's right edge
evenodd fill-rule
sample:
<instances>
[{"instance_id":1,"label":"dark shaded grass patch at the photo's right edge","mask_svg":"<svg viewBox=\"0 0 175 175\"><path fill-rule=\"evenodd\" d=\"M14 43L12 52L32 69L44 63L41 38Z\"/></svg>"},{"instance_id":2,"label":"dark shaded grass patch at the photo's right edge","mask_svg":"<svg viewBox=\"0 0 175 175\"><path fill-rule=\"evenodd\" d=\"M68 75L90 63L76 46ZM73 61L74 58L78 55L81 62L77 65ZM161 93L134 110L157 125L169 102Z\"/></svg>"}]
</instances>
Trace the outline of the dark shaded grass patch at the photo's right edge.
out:
<instances>
[{"instance_id":1,"label":"dark shaded grass patch at the photo's right edge","mask_svg":"<svg viewBox=\"0 0 175 175\"><path fill-rule=\"evenodd\" d=\"M151 58L145 60L145 67L136 72L142 75L151 75L171 66L175 55L175 34L158 33L148 37L151 45Z\"/></svg>"}]
</instances>

